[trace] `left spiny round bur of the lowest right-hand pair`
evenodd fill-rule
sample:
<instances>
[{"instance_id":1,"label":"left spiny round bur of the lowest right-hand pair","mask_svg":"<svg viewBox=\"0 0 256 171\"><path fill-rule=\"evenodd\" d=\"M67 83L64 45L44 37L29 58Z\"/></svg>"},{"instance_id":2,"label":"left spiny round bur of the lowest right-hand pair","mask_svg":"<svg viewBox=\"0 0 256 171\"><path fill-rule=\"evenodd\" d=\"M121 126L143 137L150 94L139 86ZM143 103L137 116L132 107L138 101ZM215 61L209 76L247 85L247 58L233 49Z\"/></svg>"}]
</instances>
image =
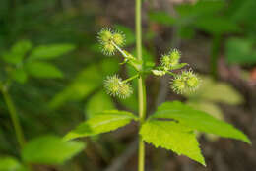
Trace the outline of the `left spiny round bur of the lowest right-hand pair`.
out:
<instances>
[{"instance_id":1,"label":"left spiny round bur of the lowest right-hand pair","mask_svg":"<svg viewBox=\"0 0 256 171\"><path fill-rule=\"evenodd\" d=\"M179 75L176 76L171 82L170 87L174 92L177 94L183 94L187 90L186 82L184 79Z\"/></svg>"}]
</instances>

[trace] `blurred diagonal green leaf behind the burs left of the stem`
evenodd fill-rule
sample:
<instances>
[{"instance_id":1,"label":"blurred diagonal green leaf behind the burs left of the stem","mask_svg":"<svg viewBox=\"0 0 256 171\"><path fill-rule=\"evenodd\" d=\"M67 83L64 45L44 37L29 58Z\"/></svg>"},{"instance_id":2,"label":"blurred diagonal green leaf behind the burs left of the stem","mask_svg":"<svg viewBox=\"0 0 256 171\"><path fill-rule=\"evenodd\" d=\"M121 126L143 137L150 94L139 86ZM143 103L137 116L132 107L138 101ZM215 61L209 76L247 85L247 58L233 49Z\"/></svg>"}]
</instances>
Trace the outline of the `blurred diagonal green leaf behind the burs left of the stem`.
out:
<instances>
[{"instance_id":1,"label":"blurred diagonal green leaf behind the burs left of the stem","mask_svg":"<svg viewBox=\"0 0 256 171\"><path fill-rule=\"evenodd\" d=\"M114 59L103 60L87 66L70 85L54 96L50 101L50 107L56 109L67 101L79 101L88 97L103 85L103 80L107 75L112 75L117 71L118 62Z\"/></svg>"}]
</instances>

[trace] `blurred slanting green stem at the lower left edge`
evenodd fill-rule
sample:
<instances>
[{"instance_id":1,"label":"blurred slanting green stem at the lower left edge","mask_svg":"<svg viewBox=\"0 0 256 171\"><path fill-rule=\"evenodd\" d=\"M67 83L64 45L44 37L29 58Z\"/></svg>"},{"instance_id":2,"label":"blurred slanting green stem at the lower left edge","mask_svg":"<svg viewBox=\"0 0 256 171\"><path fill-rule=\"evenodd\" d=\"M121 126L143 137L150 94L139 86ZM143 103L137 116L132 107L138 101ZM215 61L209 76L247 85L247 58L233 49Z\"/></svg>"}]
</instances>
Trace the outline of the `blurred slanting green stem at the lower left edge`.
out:
<instances>
[{"instance_id":1,"label":"blurred slanting green stem at the lower left edge","mask_svg":"<svg viewBox=\"0 0 256 171\"><path fill-rule=\"evenodd\" d=\"M14 105L14 102L13 102L10 94L8 93L8 88L2 87L1 91L3 93L4 100L6 102L7 108L9 110L9 114L12 119L12 123L13 123L14 130L16 133L17 141L20 145L20 148L22 149L25 144L25 138L24 138L23 130L22 130L22 127L20 125L20 121L19 121L19 118L17 115L16 107Z\"/></svg>"}]
</instances>

